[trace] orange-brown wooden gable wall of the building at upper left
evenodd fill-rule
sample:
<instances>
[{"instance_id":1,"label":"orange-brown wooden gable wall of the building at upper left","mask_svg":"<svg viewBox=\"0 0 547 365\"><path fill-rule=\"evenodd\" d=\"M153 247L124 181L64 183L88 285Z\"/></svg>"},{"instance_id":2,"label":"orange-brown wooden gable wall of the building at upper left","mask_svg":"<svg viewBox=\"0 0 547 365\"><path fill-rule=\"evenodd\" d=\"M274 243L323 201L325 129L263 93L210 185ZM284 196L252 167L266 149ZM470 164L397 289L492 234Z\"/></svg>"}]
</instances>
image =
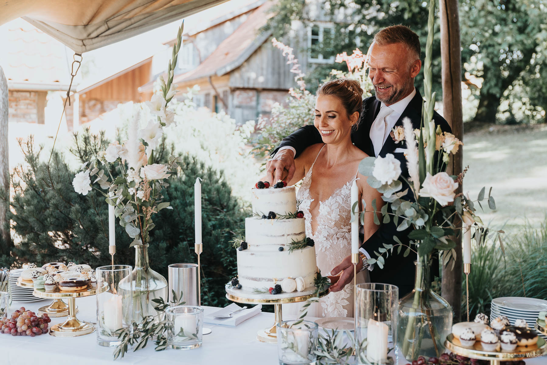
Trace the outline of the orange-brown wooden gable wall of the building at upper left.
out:
<instances>
[{"instance_id":1,"label":"orange-brown wooden gable wall of the building at upper left","mask_svg":"<svg viewBox=\"0 0 547 365\"><path fill-rule=\"evenodd\" d=\"M138 88L149 82L151 67L152 62L147 62L142 66L86 92L82 95L82 99L118 102L131 100L135 102L143 101L143 95L138 92Z\"/></svg>"}]
</instances>

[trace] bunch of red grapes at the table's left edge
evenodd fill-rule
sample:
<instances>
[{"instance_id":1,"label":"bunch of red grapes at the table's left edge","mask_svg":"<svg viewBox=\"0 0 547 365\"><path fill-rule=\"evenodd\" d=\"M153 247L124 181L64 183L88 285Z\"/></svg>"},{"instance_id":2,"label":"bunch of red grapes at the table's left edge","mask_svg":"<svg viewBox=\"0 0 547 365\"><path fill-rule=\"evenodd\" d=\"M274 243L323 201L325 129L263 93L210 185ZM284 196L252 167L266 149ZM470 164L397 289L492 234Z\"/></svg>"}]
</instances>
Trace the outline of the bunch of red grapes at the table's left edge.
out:
<instances>
[{"instance_id":1,"label":"bunch of red grapes at the table's left edge","mask_svg":"<svg viewBox=\"0 0 547 365\"><path fill-rule=\"evenodd\" d=\"M48 333L48 323L51 318L47 314L41 317L36 316L36 313L30 310L25 310L22 306L16 310L11 316L3 316L0 318L1 333L11 334L12 336L38 336Z\"/></svg>"}]
</instances>

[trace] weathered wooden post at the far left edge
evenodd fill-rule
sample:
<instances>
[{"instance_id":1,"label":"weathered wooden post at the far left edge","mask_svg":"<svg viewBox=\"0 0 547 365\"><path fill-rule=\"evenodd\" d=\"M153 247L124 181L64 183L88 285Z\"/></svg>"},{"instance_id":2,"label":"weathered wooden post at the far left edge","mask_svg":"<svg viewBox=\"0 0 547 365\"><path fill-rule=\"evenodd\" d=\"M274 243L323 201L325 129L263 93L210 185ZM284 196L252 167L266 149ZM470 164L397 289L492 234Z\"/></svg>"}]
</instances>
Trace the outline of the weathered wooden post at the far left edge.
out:
<instances>
[{"instance_id":1,"label":"weathered wooden post at the far left edge","mask_svg":"<svg viewBox=\"0 0 547 365\"><path fill-rule=\"evenodd\" d=\"M6 214L9 209L9 146L8 146L8 80L0 66L0 190L7 203L0 200L0 253L9 255L11 237Z\"/></svg>"}]
</instances>

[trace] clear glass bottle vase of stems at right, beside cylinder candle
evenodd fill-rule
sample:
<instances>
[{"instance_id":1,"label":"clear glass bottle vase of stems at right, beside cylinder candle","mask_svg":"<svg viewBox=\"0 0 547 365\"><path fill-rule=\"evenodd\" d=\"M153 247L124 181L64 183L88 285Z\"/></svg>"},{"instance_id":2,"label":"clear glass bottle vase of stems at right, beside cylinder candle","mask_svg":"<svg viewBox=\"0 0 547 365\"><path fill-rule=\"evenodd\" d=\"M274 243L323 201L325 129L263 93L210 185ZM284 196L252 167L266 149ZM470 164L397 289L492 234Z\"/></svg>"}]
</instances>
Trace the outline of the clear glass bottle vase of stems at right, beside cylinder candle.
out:
<instances>
[{"instance_id":1,"label":"clear glass bottle vase of stems at right, beside cylinder candle","mask_svg":"<svg viewBox=\"0 0 547 365\"><path fill-rule=\"evenodd\" d=\"M452 329L452 308L431 288L429 257L418 257L415 287L399 301L399 349L407 361L439 357Z\"/></svg>"}]
</instances>

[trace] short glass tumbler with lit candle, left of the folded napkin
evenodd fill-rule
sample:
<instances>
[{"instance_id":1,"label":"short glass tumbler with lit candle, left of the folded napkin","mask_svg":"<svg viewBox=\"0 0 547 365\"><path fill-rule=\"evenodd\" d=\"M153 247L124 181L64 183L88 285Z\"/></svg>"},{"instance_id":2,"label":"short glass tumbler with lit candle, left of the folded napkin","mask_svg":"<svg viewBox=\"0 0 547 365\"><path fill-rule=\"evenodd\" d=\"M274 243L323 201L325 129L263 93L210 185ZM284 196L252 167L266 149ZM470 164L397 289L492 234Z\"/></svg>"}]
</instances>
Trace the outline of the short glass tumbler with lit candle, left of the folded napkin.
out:
<instances>
[{"instance_id":1,"label":"short glass tumbler with lit candle, left of the folded napkin","mask_svg":"<svg viewBox=\"0 0 547 365\"><path fill-rule=\"evenodd\" d=\"M203 337L203 309L178 305L165 310L167 346L177 350L197 349Z\"/></svg>"}]
</instances>

